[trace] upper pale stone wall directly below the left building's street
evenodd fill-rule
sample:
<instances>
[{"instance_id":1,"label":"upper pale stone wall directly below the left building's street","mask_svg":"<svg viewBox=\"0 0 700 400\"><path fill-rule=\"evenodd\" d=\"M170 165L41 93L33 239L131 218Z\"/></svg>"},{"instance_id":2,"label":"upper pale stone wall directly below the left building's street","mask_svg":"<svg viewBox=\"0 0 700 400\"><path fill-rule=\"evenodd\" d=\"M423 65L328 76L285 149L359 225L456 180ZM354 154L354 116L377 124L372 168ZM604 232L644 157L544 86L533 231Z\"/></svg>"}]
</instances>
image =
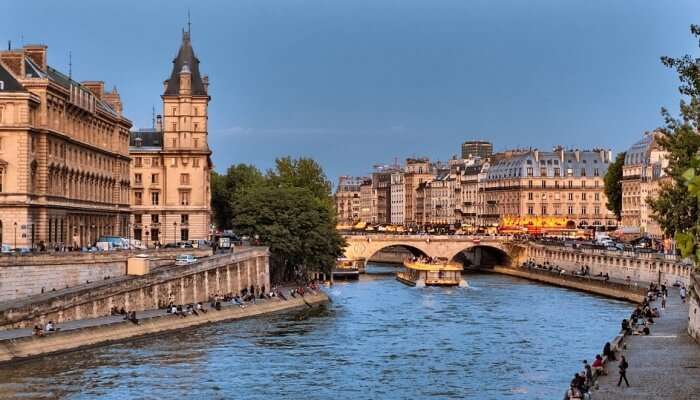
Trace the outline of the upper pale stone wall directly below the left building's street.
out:
<instances>
[{"instance_id":1,"label":"upper pale stone wall directly below the left building's street","mask_svg":"<svg viewBox=\"0 0 700 400\"><path fill-rule=\"evenodd\" d=\"M104 253L39 253L0 256L0 302L64 289L126 274L126 260L148 254L152 267L172 263L178 254L202 257L210 249L160 249Z\"/></svg>"}]
</instances>

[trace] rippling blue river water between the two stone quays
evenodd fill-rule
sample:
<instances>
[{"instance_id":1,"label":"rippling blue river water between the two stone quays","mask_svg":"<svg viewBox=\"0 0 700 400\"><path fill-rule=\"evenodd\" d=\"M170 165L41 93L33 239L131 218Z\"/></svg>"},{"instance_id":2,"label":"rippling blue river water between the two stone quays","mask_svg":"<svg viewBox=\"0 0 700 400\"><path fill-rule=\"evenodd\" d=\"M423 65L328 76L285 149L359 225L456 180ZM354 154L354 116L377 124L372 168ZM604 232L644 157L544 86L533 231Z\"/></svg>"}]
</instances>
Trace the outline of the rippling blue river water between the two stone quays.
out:
<instances>
[{"instance_id":1,"label":"rippling blue river water between the two stone quays","mask_svg":"<svg viewBox=\"0 0 700 400\"><path fill-rule=\"evenodd\" d=\"M313 313L0 369L0 398L560 399L632 308L497 275L416 289L370 271Z\"/></svg>"}]
</instances>

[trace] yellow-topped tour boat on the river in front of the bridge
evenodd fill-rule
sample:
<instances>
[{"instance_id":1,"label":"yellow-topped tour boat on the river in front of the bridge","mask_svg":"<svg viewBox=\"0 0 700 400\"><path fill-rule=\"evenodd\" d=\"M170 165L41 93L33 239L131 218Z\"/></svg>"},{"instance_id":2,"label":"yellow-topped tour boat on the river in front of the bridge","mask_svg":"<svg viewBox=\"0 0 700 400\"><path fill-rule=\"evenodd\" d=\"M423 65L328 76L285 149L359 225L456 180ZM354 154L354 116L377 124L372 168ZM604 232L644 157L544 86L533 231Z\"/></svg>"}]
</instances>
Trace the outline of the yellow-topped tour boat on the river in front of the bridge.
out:
<instances>
[{"instance_id":1,"label":"yellow-topped tour boat on the river in front of the bridge","mask_svg":"<svg viewBox=\"0 0 700 400\"><path fill-rule=\"evenodd\" d=\"M455 262L438 259L436 261L409 261L404 269L396 273L396 280L409 286L459 286L467 287L462 278L464 267Z\"/></svg>"}]
</instances>

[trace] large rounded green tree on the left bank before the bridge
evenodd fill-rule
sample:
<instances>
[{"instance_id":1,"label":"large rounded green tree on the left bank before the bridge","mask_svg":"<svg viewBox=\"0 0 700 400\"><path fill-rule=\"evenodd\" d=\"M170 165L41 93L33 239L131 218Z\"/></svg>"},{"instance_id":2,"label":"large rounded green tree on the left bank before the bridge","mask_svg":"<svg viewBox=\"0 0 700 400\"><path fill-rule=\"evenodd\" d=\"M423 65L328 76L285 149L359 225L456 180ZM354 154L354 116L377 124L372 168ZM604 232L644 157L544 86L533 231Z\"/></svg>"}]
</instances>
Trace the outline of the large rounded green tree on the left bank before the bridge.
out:
<instances>
[{"instance_id":1,"label":"large rounded green tree on the left bank before the bridge","mask_svg":"<svg viewBox=\"0 0 700 400\"><path fill-rule=\"evenodd\" d=\"M261 185L244 190L234 201L233 228L257 237L270 248L275 282L329 273L343 253L329 205L307 188Z\"/></svg>"}]
</instances>

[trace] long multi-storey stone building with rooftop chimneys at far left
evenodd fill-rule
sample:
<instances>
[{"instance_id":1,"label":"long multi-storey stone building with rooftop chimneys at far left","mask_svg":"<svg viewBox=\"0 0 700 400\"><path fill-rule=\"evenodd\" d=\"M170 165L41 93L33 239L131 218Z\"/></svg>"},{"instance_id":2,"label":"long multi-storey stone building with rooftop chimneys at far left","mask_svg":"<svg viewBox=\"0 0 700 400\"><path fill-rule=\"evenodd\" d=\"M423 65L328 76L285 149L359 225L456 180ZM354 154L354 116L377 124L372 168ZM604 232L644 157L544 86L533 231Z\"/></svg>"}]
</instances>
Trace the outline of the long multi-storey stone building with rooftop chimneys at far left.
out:
<instances>
[{"instance_id":1,"label":"long multi-storey stone building with rooftop chimneys at far left","mask_svg":"<svg viewBox=\"0 0 700 400\"><path fill-rule=\"evenodd\" d=\"M0 52L0 243L88 246L129 220L129 129L116 89Z\"/></svg>"}]
</instances>

